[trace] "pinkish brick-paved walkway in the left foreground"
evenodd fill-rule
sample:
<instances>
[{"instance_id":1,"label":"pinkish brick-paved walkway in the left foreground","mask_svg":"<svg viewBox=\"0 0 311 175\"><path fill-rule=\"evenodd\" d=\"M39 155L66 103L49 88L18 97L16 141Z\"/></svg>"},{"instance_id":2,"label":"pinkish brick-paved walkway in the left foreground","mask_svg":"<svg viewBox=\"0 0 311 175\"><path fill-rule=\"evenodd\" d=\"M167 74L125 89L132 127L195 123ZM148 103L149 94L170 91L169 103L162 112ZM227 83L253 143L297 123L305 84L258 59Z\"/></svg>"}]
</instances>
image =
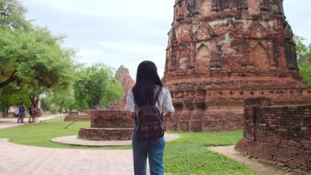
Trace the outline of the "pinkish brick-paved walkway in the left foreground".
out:
<instances>
[{"instance_id":1,"label":"pinkish brick-paved walkway in the left foreground","mask_svg":"<svg viewBox=\"0 0 311 175\"><path fill-rule=\"evenodd\" d=\"M0 174L130 175L131 150L57 149L24 146L0 139Z\"/></svg>"}]
</instances>

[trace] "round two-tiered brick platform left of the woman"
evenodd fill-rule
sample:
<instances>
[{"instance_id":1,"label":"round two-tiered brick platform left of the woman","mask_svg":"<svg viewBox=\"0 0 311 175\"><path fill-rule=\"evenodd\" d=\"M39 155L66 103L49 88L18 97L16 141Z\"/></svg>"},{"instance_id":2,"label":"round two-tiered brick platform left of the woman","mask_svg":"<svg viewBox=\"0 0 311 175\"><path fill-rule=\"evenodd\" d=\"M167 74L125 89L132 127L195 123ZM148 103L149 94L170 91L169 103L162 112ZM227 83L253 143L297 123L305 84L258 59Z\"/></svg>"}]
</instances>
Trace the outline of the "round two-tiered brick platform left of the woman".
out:
<instances>
[{"instance_id":1,"label":"round two-tiered brick platform left of the woman","mask_svg":"<svg viewBox=\"0 0 311 175\"><path fill-rule=\"evenodd\" d=\"M92 110L91 127L80 128L79 139L110 141L131 140L134 122L126 117L126 111Z\"/></svg>"}]
</instances>

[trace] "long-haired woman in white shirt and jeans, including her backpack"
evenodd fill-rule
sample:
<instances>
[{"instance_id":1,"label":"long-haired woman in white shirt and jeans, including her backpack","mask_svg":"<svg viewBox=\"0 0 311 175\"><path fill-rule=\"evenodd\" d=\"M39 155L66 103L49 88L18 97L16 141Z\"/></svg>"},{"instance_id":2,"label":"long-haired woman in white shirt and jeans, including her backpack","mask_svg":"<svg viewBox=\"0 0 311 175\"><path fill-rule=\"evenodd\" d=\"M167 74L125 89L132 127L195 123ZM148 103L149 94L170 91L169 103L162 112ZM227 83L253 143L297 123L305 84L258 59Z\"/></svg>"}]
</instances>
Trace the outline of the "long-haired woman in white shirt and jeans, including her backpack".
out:
<instances>
[{"instance_id":1,"label":"long-haired woman in white shirt and jeans, including her backpack","mask_svg":"<svg viewBox=\"0 0 311 175\"><path fill-rule=\"evenodd\" d=\"M152 108L152 106L156 107ZM148 120L157 116L157 113L148 116L150 108L152 108L151 112L158 111L161 124L158 120L149 123ZM143 61L138 65L136 84L128 92L126 111L127 117L135 120L132 135L135 175L146 174L147 157L150 174L163 175L165 147L163 117L171 118L174 114L174 107L169 90L163 87L156 64L153 62ZM142 123L142 121L145 122Z\"/></svg>"}]
</instances>

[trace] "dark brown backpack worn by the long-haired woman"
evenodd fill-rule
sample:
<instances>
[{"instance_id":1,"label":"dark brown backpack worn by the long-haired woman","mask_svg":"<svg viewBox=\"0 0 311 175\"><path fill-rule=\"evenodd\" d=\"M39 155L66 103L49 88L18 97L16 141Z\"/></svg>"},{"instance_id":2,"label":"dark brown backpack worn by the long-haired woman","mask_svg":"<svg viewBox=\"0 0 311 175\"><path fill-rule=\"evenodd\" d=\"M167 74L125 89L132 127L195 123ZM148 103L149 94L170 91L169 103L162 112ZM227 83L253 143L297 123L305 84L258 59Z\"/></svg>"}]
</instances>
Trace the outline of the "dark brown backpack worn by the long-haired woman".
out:
<instances>
[{"instance_id":1,"label":"dark brown backpack worn by the long-haired woman","mask_svg":"<svg viewBox=\"0 0 311 175\"><path fill-rule=\"evenodd\" d=\"M163 86L160 86L152 104L140 107L135 120L138 123L136 135L138 139L157 139L164 136L163 113L156 106Z\"/></svg>"}]
</instances>

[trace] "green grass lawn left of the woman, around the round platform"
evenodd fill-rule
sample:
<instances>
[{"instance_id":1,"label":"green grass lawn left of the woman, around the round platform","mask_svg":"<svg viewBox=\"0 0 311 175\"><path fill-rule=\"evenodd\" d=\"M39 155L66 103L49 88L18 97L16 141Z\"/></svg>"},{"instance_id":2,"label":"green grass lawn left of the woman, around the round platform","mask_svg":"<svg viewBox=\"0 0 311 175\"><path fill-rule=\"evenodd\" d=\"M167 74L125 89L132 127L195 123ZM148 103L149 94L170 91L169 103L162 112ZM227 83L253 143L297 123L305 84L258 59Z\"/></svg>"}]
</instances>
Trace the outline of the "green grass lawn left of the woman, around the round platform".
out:
<instances>
[{"instance_id":1,"label":"green grass lawn left of the woman, around the round platform","mask_svg":"<svg viewBox=\"0 0 311 175\"><path fill-rule=\"evenodd\" d=\"M36 124L27 124L6 129L0 129L0 138L10 138L10 141L12 143L17 144L53 148L130 149L131 147L86 147L71 146L51 142L50 139L55 137L78 135L79 129L81 127L90 127L91 125L90 122L76 122L73 125L69 126L67 129L65 129L65 127L71 122L63 122L64 117L65 116L56 117L54 119L42 121Z\"/></svg>"}]
</instances>

